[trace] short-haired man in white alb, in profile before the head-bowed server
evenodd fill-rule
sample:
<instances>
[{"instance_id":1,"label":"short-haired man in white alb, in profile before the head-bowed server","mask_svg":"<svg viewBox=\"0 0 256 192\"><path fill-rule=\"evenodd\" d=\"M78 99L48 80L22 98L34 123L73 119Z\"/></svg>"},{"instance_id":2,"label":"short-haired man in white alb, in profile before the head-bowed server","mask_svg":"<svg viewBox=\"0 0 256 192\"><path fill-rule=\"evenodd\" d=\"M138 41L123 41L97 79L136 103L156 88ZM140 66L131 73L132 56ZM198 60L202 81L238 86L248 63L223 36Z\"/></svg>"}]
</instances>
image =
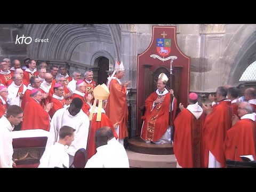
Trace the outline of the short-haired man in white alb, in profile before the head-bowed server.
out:
<instances>
[{"instance_id":1,"label":"short-haired man in white alb, in profile before the head-bowed server","mask_svg":"<svg viewBox=\"0 0 256 192\"><path fill-rule=\"evenodd\" d=\"M59 141L46 148L40 159L38 168L69 168L69 155L65 146L70 146L75 136L75 129L70 126L62 126L59 132Z\"/></svg>"}]
</instances>

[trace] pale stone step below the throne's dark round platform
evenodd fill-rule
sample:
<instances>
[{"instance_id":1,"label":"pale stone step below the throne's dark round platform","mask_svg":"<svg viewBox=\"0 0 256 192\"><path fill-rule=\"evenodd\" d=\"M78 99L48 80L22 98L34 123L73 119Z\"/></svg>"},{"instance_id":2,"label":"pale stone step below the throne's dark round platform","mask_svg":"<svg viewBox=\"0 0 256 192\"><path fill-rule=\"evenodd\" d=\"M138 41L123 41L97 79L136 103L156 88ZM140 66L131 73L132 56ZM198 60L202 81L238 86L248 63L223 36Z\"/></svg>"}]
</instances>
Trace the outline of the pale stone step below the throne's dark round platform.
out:
<instances>
[{"instance_id":1,"label":"pale stone step below the throne's dark round platform","mask_svg":"<svg viewBox=\"0 0 256 192\"><path fill-rule=\"evenodd\" d=\"M130 167L138 168L176 168L174 155L150 155L135 153L126 149Z\"/></svg>"}]
</instances>

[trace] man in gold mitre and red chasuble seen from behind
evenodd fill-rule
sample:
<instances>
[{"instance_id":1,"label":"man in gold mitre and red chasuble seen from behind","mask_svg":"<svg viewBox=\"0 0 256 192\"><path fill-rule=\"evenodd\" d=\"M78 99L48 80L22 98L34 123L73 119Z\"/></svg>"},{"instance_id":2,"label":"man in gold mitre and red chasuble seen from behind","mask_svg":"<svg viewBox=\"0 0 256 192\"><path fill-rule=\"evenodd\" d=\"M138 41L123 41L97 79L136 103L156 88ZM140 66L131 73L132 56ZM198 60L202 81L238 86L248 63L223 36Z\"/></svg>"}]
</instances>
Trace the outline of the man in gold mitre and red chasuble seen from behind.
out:
<instances>
[{"instance_id":1,"label":"man in gold mitre and red chasuble seen from behind","mask_svg":"<svg viewBox=\"0 0 256 192\"><path fill-rule=\"evenodd\" d=\"M118 136L114 129L113 122L110 121L105 114L105 108L107 106L107 99L109 96L108 87L105 84L98 85L94 91L94 103L90 109L90 127L87 140L87 158L90 159L96 153L96 146L94 142L95 132L101 127L107 126L113 131L115 138Z\"/></svg>"}]
</instances>

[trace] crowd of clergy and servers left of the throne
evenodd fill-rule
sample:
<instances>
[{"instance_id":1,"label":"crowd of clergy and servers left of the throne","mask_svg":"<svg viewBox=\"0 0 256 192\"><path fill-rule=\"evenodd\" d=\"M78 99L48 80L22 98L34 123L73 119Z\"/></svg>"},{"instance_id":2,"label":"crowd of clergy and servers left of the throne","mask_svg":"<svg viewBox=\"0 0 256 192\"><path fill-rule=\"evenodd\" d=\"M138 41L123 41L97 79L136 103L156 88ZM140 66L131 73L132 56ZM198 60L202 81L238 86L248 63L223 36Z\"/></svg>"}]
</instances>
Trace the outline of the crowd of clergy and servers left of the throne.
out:
<instances>
[{"instance_id":1,"label":"crowd of clergy and servers left of the throne","mask_svg":"<svg viewBox=\"0 0 256 192\"><path fill-rule=\"evenodd\" d=\"M119 81L122 62L106 79L108 86L95 83L92 70L84 77L75 70L71 77L66 65L37 65L30 58L23 66L4 59L0 69L0 167L16 166L11 132L38 129L49 133L39 167L70 167L81 148L89 159L85 167L129 167L123 146L129 82Z\"/></svg>"}]
</instances>

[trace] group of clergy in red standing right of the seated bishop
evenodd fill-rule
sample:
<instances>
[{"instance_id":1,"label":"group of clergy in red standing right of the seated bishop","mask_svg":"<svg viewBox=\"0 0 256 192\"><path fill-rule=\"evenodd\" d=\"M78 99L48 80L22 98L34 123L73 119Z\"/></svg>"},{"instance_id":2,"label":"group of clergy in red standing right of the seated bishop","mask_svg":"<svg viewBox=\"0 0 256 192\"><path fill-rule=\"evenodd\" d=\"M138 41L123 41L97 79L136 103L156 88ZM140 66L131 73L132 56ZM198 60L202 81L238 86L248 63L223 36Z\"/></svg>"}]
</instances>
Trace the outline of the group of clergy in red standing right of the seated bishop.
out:
<instances>
[{"instance_id":1,"label":"group of clergy in red standing right of the seated bishop","mask_svg":"<svg viewBox=\"0 0 256 192\"><path fill-rule=\"evenodd\" d=\"M198 95L190 93L187 108L179 104L173 143L177 167L228 167L227 160L241 162L240 156L255 159L255 89L239 97L237 87L219 86L209 101L199 106Z\"/></svg>"}]
</instances>

